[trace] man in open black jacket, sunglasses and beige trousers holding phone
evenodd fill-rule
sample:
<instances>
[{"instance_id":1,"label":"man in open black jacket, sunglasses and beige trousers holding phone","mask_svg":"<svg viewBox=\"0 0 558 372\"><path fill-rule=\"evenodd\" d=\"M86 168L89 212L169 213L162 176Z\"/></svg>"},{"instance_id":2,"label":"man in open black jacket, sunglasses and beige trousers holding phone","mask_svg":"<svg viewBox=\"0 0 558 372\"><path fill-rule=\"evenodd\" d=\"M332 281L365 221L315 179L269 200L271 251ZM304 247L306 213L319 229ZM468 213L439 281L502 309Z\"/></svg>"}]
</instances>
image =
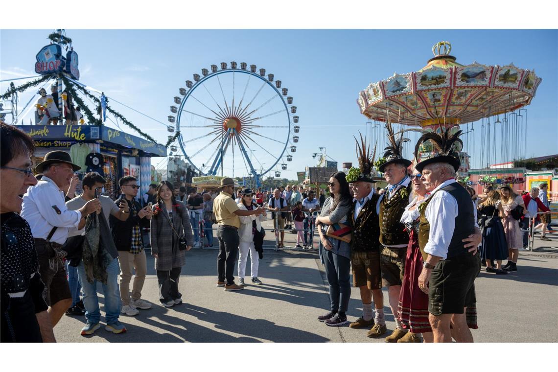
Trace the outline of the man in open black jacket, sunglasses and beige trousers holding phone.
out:
<instances>
[{"instance_id":1,"label":"man in open black jacket, sunglasses and beige trousers holding phone","mask_svg":"<svg viewBox=\"0 0 558 372\"><path fill-rule=\"evenodd\" d=\"M143 250L142 228L149 227L149 220L153 212L148 207L142 208L140 203L135 200L140 185L137 185L137 178L132 176L122 177L118 181L122 190L122 195L117 201L124 200L128 203L131 215L126 221L121 221L114 216L110 216L112 226L112 238L114 245L118 249L118 260L120 262L120 296L122 297L122 312L128 316L140 313L137 309L151 308L151 303L141 298L143 282L147 274L147 261ZM132 269L136 269L136 276L130 297L130 281L132 279Z\"/></svg>"}]
</instances>

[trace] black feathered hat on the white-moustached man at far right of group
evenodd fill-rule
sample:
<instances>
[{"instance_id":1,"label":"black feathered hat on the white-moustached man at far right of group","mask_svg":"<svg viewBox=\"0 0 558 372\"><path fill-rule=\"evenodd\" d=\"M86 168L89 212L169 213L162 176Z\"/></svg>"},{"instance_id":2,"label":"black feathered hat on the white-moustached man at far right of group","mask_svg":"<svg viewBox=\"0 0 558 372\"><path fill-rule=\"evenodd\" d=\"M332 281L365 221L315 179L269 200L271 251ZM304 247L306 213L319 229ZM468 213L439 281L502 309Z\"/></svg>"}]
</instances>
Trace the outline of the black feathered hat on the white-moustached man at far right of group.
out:
<instances>
[{"instance_id":1,"label":"black feathered hat on the white-moustached man at far right of group","mask_svg":"<svg viewBox=\"0 0 558 372\"><path fill-rule=\"evenodd\" d=\"M425 166L432 163L449 163L457 172L461 165L461 161L459 160L459 151L455 145L456 143L461 143L461 146L463 146L463 141L459 138L461 132L463 131L459 130L451 134L450 129L447 127L442 128L440 125L440 133L425 132L422 134L422 137L419 138L415 146L415 157L417 161L419 160L419 148L423 142L430 140L434 144L434 147L437 148L437 151L433 152L426 160L419 162L415 166L416 170L422 172Z\"/></svg>"}]
</instances>

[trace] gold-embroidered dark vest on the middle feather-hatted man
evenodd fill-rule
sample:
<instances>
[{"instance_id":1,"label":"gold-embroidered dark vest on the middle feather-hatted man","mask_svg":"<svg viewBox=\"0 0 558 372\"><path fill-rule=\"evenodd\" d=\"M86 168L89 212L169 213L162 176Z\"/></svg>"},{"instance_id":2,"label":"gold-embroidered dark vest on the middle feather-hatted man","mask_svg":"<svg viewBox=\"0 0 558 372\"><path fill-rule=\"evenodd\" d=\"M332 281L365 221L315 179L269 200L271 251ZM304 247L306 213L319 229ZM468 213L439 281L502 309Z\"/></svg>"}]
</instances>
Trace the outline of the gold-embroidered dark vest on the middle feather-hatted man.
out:
<instances>
[{"instance_id":1,"label":"gold-embroidered dark vest on the middle feather-hatted man","mask_svg":"<svg viewBox=\"0 0 558 372\"><path fill-rule=\"evenodd\" d=\"M405 207L409 204L412 182L407 187L401 187L395 195L387 198L387 189L380 202L380 243L383 245L400 245L409 243L409 234L400 220ZM405 190L405 191L403 191Z\"/></svg>"}]
</instances>

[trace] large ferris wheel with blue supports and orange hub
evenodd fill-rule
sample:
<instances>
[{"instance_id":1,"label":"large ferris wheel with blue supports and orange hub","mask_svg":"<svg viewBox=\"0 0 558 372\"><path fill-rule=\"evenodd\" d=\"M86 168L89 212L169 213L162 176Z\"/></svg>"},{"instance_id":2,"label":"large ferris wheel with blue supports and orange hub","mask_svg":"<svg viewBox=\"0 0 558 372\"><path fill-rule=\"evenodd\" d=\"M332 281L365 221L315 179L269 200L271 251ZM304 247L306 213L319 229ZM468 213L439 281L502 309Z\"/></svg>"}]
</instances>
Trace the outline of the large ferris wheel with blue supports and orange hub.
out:
<instances>
[{"instance_id":1,"label":"large ferris wheel with blue supports and orange hub","mask_svg":"<svg viewBox=\"0 0 558 372\"><path fill-rule=\"evenodd\" d=\"M182 156L201 175L252 175L258 184L268 172L280 177L299 142L292 96L256 65L220 65L201 69L174 97L169 131L176 129Z\"/></svg>"}]
</instances>

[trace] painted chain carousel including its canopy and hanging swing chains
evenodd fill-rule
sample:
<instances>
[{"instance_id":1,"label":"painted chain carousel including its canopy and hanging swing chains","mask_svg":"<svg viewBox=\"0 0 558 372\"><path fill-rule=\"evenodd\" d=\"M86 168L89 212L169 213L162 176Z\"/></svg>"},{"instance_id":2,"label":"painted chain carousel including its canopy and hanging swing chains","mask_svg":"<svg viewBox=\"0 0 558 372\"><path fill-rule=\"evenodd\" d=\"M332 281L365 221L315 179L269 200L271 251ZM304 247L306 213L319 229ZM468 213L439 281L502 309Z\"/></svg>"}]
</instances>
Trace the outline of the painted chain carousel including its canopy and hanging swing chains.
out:
<instances>
[{"instance_id":1,"label":"painted chain carousel including its canopy and hanging swing chains","mask_svg":"<svg viewBox=\"0 0 558 372\"><path fill-rule=\"evenodd\" d=\"M374 122L389 121L426 131L440 131L443 125L449 127L451 133L459 129L466 134L474 133L473 122L480 120L480 149L475 149L474 140L468 149L480 156L482 165L525 158L525 107L535 96L541 78L535 71L521 69L513 63L461 65L450 52L451 44L441 41L432 47L434 57L422 69L396 73L391 78L369 84L360 91L357 100L360 112ZM378 123L374 125L379 126ZM421 146L419 157L427 157L433 150L432 144L426 142ZM469 167L469 156L462 152L461 157L459 173L463 175Z\"/></svg>"}]
</instances>

